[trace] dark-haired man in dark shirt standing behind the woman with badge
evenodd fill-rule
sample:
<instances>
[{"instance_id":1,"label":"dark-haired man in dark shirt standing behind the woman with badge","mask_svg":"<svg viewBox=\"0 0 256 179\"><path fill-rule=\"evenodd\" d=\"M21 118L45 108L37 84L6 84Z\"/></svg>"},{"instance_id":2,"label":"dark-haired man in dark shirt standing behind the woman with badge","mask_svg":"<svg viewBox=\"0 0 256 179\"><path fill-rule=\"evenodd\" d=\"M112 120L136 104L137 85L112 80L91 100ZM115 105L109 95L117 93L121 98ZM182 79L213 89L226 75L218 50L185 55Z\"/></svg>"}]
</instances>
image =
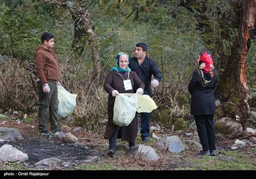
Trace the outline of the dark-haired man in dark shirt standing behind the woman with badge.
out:
<instances>
[{"instance_id":1,"label":"dark-haired man in dark shirt standing behind the woman with badge","mask_svg":"<svg viewBox=\"0 0 256 179\"><path fill-rule=\"evenodd\" d=\"M135 47L134 57L130 59L129 67L136 72L141 81L145 84L144 94L152 97L152 90L150 84L157 88L159 82L163 78L156 61L147 57L147 45L145 43L138 43ZM154 79L152 79L154 75ZM136 90L136 89L135 89ZM150 113L141 114L141 138L143 141L149 142L149 121Z\"/></svg>"}]
</instances>

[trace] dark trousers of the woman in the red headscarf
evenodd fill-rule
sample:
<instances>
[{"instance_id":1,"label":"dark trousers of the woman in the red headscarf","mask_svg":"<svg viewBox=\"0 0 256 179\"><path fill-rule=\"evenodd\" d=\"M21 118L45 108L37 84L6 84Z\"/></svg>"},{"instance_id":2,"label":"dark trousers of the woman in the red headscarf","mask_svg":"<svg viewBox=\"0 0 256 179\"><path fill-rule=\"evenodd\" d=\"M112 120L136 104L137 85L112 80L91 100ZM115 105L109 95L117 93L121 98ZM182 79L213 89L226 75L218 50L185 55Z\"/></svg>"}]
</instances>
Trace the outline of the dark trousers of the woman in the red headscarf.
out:
<instances>
[{"instance_id":1,"label":"dark trousers of the woman in the red headscarf","mask_svg":"<svg viewBox=\"0 0 256 179\"><path fill-rule=\"evenodd\" d=\"M213 115L194 115L203 150L216 150Z\"/></svg>"}]
</instances>

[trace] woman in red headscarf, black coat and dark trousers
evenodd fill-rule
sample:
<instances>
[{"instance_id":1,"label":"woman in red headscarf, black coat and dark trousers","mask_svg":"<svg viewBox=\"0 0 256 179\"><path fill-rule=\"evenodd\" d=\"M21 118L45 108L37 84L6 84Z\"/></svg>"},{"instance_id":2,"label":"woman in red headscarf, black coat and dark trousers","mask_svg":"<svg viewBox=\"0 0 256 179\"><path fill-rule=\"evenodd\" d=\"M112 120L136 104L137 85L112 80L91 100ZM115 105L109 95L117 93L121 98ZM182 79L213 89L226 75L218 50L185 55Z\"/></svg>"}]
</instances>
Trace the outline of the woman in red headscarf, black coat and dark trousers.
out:
<instances>
[{"instance_id":1,"label":"woman in red headscarf, black coat and dark trousers","mask_svg":"<svg viewBox=\"0 0 256 179\"><path fill-rule=\"evenodd\" d=\"M198 68L188 85L191 93L191 114L194 115L196 128L203 150L198 155L216 155L215 146L215 98L217 82L211 55L202 52L198 59Z\"/></svg>"}]
</instances>

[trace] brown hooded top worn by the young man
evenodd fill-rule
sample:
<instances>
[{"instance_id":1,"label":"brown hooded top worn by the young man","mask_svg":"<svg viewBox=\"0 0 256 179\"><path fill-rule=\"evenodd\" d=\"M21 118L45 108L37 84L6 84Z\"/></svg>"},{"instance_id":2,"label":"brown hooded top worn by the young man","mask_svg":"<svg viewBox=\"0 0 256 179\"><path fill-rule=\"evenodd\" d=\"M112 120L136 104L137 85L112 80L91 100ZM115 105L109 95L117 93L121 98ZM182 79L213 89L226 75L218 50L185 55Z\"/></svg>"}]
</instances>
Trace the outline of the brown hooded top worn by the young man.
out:
<instances>
[{"instance_id":1,"label":"brown hooded top worn by the young man","mask_svg":"<svg viewBox=\"0 0 256 179\"><path fill-rule=\"evenodd\" d=\"M56 55L52 49L47 49L40 45L36 49L36 74L41 83L47 81L58 82L60 77L60 69Z\"/></svg>"}]
</instances>

